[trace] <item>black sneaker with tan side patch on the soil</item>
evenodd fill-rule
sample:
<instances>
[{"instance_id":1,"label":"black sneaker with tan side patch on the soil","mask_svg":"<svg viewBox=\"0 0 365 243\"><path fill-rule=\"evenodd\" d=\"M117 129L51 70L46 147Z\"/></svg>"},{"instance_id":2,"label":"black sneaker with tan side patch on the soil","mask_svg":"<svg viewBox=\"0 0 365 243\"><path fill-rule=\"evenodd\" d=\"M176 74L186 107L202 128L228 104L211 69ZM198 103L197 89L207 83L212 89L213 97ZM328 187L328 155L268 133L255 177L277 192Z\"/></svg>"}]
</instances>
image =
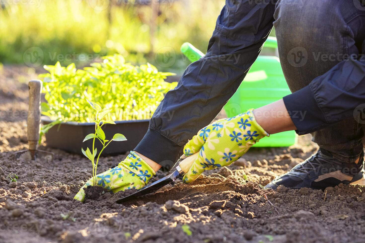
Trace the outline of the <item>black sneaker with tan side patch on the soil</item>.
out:
<instances>
[{"instance_id":1,"label":"black sneaker with tan side patch on the soil","mask_svg":"<svg viewBox=\"0 0 365 243\"><path fill-rule=\"evenodd\" d=\"M321 149L306 161L295 166L288 173L277 177L265 188L276 189L279 185L292 189L308 187L324 190L338 184L355 183L363 179L364 152L360 161L356 163L341 162L331 156L323 154Z\"/></svg>"}]
</instances>

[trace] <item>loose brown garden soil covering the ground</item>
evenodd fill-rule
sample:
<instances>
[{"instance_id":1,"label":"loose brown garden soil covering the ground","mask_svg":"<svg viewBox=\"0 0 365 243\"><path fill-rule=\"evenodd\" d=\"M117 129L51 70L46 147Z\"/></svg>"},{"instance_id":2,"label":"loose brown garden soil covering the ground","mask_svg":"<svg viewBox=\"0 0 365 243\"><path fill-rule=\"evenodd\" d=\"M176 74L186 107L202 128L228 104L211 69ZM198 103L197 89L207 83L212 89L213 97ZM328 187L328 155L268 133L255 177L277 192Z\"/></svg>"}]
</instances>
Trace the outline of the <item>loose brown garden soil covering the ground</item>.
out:
<instances>
[{"instance_id":1,"label":"loose brown garden soil covering the ground","mask_svg":"<svg viewBox=\"0 0 365 243\"><path fill-rule=\"evenodd\" d=\"M262 187L315 152L310 136L290 148L251 149L228 168L189 185L178 179L125 204L114 203L121 192L75 201L92 175L86 158L45 141L41 149L55 154L53 162L13 160L14 152L27 148L25 117L15 111L27 110L27 85L19 80L31 75L23 67L0 74L0 243L365 241L365 187L341 184L327 193ZM101 158L98 171L125 157ZM7 179L12 173L18 182Z\"/></svg>"}]
</instances>

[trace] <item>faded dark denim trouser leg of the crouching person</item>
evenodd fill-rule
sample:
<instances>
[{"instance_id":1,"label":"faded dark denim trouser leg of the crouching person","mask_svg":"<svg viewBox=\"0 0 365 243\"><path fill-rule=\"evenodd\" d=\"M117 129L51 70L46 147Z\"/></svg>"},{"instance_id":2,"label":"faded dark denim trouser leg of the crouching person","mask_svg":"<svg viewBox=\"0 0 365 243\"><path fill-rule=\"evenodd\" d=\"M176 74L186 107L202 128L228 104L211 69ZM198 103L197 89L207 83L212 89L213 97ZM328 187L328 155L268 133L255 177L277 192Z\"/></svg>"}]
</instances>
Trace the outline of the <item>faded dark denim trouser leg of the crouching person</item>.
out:
<instances>
[{"instance_id":1,"label":"faded dark denim trouser leg of the crouching person","mask_svg":"<svg viewBox=\"0 0 365 243\"><path fill-rule=\"evenodd\" d=\"M353 0L281 0L274 18L281 65L293 92L325 74L347 55L364 52L365 11ZM342 71L342 77L348 77L351 68ZM335 73L341 75L341 70ZM342 83L345 86L346 80ZM336 111L336 107L333 109ZM353 117L313 132L312 136L321 148L344 162L353 162L362 151L361 124Z\"/></svg>"}]
</instances>

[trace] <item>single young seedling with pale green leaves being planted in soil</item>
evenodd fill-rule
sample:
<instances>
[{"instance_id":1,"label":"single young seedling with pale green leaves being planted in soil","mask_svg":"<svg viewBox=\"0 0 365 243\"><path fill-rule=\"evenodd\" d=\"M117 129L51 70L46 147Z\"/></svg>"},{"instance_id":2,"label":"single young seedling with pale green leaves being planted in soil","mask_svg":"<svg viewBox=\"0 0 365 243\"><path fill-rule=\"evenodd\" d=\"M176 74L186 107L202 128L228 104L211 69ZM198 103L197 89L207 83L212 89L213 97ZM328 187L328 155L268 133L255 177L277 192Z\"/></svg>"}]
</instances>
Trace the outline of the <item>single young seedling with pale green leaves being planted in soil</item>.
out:
<instances>
[{"instance_id":1,"label":"single young seedling with pale green leaves being planted in soil","mask_svg":"<svg viewBox=\"0 0 365 243\"><path fill-rule=\"evenodd\" d=\"M92 150L90 150L89 148L86 149L86 151L81 148L82 153L91 161L92 163L92 181L93 181L93 185L96 186L96 171L97 171L97 164L99 162L99 158L101 153L103 152L103 150L111 143L111 141L125 141L127 140L126 137L124 137L123 134L120 133L116 133L114 134L113 138L111 140L106 140L105 139L105 133L102 129L103 125L105 124L115 124L114 121L105 121L104 117L111 112L111 110L107 109L107 110L102 110L101 106L98 105L95 102L89 101L89 104L91 105L91 107L95 110L95 120L93 120L93 122L95 122L95 133L90 133L88 134L85 138L84 141L85 142L89 139L92 139ZM95 140L99 140L101 142L101 144L103 145L103 148L101 149L101 151L99 152L99 154L97 155L97 149L95 148ZM93 151L93 153L91 153L91 151ZM97 157L96 157L97 155ZM95 162L95 158L96 158L96 162Z\"/></svg>"}]
</instances>

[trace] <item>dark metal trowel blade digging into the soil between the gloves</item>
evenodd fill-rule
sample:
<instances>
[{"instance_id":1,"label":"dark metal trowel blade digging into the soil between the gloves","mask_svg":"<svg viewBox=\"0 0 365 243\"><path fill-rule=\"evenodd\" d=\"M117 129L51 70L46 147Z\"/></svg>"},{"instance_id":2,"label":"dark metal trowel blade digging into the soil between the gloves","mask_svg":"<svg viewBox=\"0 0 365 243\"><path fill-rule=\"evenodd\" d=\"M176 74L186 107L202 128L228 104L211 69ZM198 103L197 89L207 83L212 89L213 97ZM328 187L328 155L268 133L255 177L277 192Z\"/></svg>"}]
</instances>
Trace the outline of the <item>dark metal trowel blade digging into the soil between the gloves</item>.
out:
<instances>
[{"instance_id":1,"label":"dark metal trowel blade digging into the soil between the gloves","mask_svg":"<svg viewBox=\"0 0 365 243\"><path fill-rule=\"evenodd\" d=\"M180 175L180 173L176 170L172 174L165 176L164 178L162 178L158 181L155 181L154 183L148 185L147 187L143 187L142 189L139 189L138 192L125 196L122 199L119 199L118 201L116 201L116 203L121 204L124 201L131 200L131 199L155 192L158 189L160 189L161 187L164 187L165 185L172 183L179 175Z\"/></svg>"}]
</instances>

